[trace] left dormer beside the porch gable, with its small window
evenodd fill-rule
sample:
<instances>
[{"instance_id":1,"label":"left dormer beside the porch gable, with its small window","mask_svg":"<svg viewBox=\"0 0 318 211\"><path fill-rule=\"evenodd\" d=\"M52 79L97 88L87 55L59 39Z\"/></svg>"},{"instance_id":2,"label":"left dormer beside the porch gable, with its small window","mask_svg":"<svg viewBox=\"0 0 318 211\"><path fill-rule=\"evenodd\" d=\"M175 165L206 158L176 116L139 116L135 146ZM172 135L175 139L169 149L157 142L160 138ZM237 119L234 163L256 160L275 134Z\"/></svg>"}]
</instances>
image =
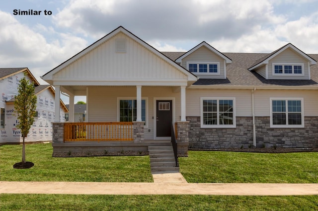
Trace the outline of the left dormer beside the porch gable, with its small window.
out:
<instances>
[{"instance_id":1,"label":"left dormer beside the porch gable, with its small window","mask_svg":"<svg viewBox=\"0 0 318 211\"><path fill-rule=\"evenodd\" d=\"M232 60L203 41L175 62L199 78L226 79L226 66Z\"/></svg>"}]
</instances>

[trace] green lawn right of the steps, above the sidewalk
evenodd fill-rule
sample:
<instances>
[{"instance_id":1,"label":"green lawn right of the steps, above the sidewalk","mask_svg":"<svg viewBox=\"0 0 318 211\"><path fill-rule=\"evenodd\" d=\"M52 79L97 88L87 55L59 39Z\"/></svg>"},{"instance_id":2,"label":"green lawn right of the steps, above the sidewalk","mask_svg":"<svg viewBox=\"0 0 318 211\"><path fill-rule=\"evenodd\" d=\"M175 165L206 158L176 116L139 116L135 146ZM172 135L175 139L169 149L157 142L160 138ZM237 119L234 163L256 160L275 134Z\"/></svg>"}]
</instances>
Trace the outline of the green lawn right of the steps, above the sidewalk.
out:
<instances>
[{"instance_id":1,"label":"green lawn right of the steps, above the sidewalk","mask_svg":"<svg viewBox=\"0 0 318 211\"><path fill-rule=\"evenodd\" d=\"M188 154L179 165L189 183L318 183L318 152Z\"/></svg>"}]
</instances>

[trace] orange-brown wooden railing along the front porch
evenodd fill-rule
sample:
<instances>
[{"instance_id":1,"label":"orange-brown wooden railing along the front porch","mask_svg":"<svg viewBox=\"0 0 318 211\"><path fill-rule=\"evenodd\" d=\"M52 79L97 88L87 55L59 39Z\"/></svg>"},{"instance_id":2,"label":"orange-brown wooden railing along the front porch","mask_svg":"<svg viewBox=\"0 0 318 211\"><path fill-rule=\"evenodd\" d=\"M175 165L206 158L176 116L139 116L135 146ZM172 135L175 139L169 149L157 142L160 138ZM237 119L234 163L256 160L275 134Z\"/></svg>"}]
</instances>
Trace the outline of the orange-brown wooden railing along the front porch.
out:
<instances>
[{"instance_id":1,"label":"orange-brown wooden railing along the front porch","mask_svg":"<svg viewBox=\"0 0 318 211\"><path fill-rule=\"evenodd\" d=\"M133 141L133 122L66 122L64 141Z\"/></svg>"}]
</instances>

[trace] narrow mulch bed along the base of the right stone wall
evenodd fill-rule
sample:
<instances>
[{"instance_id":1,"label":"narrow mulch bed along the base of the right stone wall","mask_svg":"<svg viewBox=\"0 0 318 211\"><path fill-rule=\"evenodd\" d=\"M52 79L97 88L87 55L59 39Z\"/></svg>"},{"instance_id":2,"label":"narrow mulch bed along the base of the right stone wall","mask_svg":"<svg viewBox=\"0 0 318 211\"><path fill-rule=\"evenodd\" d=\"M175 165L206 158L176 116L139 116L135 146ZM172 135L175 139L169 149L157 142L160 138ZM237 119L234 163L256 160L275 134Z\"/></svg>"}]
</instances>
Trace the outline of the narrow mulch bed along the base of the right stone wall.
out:
<instances>
[{"instance_id":1,"label":"narrow mulch bed along the base of the right stone wall","mask_svg":"<svg viewBox=\"0 0 318 211\"><path fill-rule=\"evenodd\" d=\"M261 153L288 153L288 152L318 152L318 148L218 148L218 149L190 149L192 151L229 151L229 152L261 152Z\"/></svg>"}]
</instances>

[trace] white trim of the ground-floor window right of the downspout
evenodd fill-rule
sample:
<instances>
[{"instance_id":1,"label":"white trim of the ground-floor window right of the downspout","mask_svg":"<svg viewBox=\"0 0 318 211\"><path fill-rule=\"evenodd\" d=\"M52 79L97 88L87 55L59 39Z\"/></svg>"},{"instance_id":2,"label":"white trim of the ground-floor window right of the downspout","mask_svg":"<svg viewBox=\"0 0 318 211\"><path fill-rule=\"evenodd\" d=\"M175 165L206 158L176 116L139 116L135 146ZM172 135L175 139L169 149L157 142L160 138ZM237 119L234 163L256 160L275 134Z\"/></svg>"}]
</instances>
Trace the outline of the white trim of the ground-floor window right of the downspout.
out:
<instances>
[{"instance_id":1,"label":"white trim of the ground-floor window right of the downspout","mask_svg":"<svg viewBox=\"0 0 318 211\"><path fill-rule=\"evenodd\" d=\"M286 124L273 124L273 101L286 101L286 112L288 112L287 101L301 101L302 106L302 124L288 124L288 117L286 116ZM305 127L305 112L304 112L304 98L270 98L269 99L270 110L270 127L271 128L304 128ZM291 112L292 113L292 112Z\"/></svg>"}]
</instances>

